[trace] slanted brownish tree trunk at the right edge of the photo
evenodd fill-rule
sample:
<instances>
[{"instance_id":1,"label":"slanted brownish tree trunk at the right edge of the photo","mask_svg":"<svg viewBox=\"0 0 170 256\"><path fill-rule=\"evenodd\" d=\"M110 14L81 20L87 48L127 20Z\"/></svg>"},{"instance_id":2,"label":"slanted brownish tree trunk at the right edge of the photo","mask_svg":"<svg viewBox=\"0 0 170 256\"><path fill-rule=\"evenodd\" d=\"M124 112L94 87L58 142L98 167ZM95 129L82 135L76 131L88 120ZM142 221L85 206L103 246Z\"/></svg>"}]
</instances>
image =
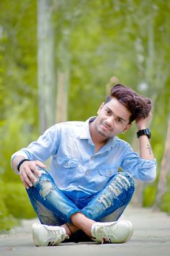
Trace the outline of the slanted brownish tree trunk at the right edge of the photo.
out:
<instances>
[{"instance_id":1,"label":"slanted brownish tree trunk at the right edge of the photo","mask_svg":"<svg viewBox=\"0 0 170 256\"><path fill-rule=\"evenodd\" d=\"M161 161L161 172L158 180L158 192L156 195L156 202L153 208L158 208L159 203L161 202L161 197L166 192L166 184L167 184L167 176L170 169L170 115L169 115L169 121L168 121L168 127L167 127L167 133L166 133L166 141L165 141L165 150L164 150L164 156Z\"/></svg>"}]
</instances>

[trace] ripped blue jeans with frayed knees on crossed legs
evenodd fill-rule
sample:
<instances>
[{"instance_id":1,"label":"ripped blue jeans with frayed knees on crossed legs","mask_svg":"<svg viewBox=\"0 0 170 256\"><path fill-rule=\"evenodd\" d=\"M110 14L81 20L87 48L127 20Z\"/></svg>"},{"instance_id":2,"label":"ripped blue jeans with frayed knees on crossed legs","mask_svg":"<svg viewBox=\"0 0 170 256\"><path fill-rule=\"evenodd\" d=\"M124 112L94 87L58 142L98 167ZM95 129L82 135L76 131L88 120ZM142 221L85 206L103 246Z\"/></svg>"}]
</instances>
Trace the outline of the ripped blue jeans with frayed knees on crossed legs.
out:
<instances>
[{"instance_id":1,"label":"ripped blue jeans with frayed knees on crossed legs","mask_svg":"<svg viewBox=\"0 0 170 256\"><path fill-rule=\"evenodd\" d=\"M132 176L118 172L102 191L78 199L79 192L61 191L48 171L40 168L40 172L42 175L37 177L33 187L27 189L27 194L40 222L51 226L71 223L71 215L78 212L94 221L117 221L135 189Z\"/></svg>"}]
</instances>

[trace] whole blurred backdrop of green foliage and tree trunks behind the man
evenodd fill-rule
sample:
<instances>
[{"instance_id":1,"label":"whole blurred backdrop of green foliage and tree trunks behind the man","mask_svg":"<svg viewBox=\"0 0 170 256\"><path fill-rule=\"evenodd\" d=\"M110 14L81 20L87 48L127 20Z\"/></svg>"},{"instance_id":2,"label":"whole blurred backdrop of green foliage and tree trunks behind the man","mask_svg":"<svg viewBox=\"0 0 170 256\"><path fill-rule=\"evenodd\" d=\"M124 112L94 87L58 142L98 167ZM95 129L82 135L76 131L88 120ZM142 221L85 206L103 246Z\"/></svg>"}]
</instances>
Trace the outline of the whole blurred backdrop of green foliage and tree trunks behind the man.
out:
<instances>
[{"instance_id":1,"label":"whole blurred backdrop of green foliage and tree trunks behind the man","mask_svg":"<svg viewBox=\"0 0 170 256\"><path fill-rule=\"evenodd\" d=\"M12 153L97 114L117 82L151 98L156 182L134 207L170 214L170 1L0 0L0 230L34 218ZM120 137L138 150L135 124Z\"/></svg>"}]
</instances>

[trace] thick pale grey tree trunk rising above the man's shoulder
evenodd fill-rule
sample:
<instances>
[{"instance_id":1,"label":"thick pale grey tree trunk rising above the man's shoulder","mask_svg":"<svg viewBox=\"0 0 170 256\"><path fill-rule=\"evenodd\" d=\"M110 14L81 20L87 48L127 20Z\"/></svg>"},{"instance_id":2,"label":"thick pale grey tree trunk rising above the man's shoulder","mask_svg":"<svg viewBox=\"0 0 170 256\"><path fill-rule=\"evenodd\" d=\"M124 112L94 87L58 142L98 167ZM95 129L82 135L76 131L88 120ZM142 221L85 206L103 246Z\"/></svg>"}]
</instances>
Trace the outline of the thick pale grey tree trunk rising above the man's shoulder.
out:
<instances>
[{"instance_id":1,"label":"thick pale grey tree trunk rising above the man's shoulder","mask_svg":"<svg viewBox=\"0 0 170 256\"><path fill-rule=\"evenodd\" d=\"M51 0L37 0L40 132L55 123L55 59Z\"/></svg>"}]
</instances>

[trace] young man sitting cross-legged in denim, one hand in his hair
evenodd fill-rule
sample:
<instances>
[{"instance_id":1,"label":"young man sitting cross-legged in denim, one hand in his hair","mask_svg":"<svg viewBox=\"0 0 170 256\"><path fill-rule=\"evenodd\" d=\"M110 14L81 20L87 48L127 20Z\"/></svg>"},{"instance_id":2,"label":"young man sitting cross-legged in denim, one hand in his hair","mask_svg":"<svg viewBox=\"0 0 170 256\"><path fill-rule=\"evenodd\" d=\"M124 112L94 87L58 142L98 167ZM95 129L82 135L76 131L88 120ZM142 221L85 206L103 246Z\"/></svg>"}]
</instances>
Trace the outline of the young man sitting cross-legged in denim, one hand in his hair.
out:
<instances>
[{"instance_id":1,"label":"young man sitting cross-legged in denim, one hand in his hair","mask_svg":"<svg viewBox=\"0 0 170 256\"><path fill-rule=\"evenodd\" d=\"M35 245L56 245L69 236L78 242L82 234L99 243L130 239L132 223L118 219L133 196L133 177L143 182L156 178L150 117L148 98L115 85L97 116L55 124L12 155L12 168L41 223L32 226ZM116 136L134 120L140 155ZM42 162L50 156L48 173Z\"/></svg>"}]
</instances>

